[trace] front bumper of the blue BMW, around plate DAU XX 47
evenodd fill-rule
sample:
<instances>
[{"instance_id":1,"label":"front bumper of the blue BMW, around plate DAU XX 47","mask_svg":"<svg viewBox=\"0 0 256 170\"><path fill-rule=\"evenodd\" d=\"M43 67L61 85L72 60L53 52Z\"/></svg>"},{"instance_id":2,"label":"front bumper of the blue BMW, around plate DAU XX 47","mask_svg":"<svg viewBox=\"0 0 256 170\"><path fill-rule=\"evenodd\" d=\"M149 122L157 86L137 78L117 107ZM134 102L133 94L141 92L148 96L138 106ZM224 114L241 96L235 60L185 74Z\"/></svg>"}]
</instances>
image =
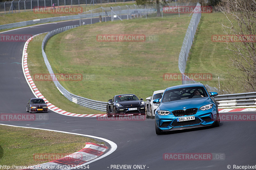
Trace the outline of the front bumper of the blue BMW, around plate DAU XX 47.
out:
<instances>
[{"instance_id":1,"label":"front bumper of the blue BMW, around plate DAU XX 47","mask_svg":"<svg viewBox=\"0 0 256 170\"><path fill-rule=\"evenodd\" d=\"M157 111L156 111L157 112ZM180 129L190 129L202 126L210 126L217 119L217 109L216 106L213 106L208 110L197 110L196 114L189 115L195 116L195 120L188 120L177 122L177 118L179 117L187 117L185 116L174 116L173 114L169 115L158 115L155 114L156 125L162 131L171 131L171 130L180 130Z\"/></svg>"}]
</instances>

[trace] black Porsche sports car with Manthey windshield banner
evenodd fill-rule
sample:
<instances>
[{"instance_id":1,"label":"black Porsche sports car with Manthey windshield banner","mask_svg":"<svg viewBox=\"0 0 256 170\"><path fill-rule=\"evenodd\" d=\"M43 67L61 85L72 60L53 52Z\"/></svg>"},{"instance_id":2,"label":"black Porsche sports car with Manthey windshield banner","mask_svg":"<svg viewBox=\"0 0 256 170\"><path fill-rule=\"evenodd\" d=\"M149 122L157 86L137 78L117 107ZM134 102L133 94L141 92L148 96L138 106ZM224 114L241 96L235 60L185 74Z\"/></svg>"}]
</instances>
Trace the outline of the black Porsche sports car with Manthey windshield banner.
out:
<instances>
[{"instance_id":1,"label":"black Porsche sports car with Manthey windshield banner","mask_svg":"<svg viewBox=\"0 0 256 170\"><path fill-rule=\"evenodd\" d=\"M107 116L119 115L145 115L146 106L143 99L138 99L134 94L120 94L108 100L107 104Z\"/></svg>"}]
</instances>

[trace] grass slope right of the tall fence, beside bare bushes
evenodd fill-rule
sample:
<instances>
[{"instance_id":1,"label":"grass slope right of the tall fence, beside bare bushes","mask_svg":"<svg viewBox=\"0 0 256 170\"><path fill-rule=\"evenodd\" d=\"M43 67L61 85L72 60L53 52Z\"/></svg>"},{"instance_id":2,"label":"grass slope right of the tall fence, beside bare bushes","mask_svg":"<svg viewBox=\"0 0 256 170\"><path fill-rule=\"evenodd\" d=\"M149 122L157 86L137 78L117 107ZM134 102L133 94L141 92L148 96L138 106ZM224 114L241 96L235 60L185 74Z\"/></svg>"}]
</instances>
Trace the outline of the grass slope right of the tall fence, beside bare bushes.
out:
<instances>
[{"instance_id":1,"label":"grass slope right of the tall fence, beside bare bushes","mask_svg":"<svg viewBox=\"0 0 256 170\"><path fill-rule=\"evenodd\" d=\"M229 93L239 93L243 92L243 87L237 85L231 87L227 81L230 78L228 72L240 74L240 71L230 64L229 57L233 55L233 52L225 48L227 46L225 42L212 41L212 35L225 34L221 26L221 23L225 22L227 22L226 17L221 12L202 13L190 49L186 73L211 73L212 80L200 82L219 88L218 77L220 77L220 91L222 87L225 87L223 90Z\"/></svg>"}]
</instances>

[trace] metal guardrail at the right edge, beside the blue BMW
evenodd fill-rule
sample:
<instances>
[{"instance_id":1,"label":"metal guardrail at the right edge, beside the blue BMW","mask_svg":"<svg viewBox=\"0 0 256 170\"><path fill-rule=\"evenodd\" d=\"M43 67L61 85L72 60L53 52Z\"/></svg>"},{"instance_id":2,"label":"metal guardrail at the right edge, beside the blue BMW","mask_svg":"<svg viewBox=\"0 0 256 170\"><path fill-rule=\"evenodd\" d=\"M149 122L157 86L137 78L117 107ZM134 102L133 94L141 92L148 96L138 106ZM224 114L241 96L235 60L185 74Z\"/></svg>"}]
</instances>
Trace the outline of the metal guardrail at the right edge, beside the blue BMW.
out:
<instances>
[{"instance_id":1,"label":"metal guardrail at the right edge, beside the blue BMW","mask_svg":"<svg viewBox=\"0 0 256 170\"><path fill-rule=\"evenodd\" d=\"M214 97L219 107L256 106L256 92L223 94Z\"/></svg>"}]
</instances>

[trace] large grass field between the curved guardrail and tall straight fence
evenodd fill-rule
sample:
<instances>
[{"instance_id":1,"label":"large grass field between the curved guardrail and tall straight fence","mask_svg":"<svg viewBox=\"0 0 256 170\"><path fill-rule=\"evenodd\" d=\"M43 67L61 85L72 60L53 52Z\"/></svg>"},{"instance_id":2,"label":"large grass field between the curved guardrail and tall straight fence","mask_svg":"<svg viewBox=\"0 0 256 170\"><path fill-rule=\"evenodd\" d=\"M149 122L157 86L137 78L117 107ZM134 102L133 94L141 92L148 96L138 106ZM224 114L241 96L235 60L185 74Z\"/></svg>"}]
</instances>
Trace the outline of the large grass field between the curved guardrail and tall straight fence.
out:
<instances>
[{"instance_id":1,"label":"large grass field between the curved guardrail and tall straight fence","mask_svg":"<svg viewBox=\"0 0 256 170\"><path fill-rule=\"evenodd\" d=\"M179 73L178 56L190 17L142 18L81 26L53 36L45 51L54 73L80 73L83 81L60 82L69 92L107 101L116 94L147 98L179 85L164 73ZM99 42L98 34L143 34L143 42ZM150 40L150 37L157 37ZM86 76L93 75L93 79Z\"/></svg>"}]
</instances>

